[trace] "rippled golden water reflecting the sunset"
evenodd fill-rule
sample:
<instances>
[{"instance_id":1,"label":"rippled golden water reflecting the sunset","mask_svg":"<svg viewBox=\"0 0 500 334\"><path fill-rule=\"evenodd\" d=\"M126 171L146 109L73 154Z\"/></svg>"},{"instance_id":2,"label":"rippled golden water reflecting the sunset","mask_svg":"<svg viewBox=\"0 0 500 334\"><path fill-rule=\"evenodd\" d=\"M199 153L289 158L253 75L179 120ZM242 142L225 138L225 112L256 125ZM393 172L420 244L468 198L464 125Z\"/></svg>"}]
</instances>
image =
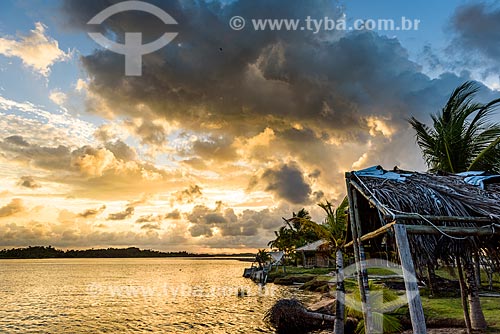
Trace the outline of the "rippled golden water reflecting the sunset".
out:
<instances>
[{"instance_id":1,"label":"rippled golden water reflecting the sunset","mask_svg":"<svg viewBox=\"0 0 500 334\"><path fill-rule=\"evenodd\" d=\"M214 259L0 260L0 333L272 333L280 298L317 298L241 277ZM238 297L245 289L246 297Z\"/></svg>"}]
</instances>

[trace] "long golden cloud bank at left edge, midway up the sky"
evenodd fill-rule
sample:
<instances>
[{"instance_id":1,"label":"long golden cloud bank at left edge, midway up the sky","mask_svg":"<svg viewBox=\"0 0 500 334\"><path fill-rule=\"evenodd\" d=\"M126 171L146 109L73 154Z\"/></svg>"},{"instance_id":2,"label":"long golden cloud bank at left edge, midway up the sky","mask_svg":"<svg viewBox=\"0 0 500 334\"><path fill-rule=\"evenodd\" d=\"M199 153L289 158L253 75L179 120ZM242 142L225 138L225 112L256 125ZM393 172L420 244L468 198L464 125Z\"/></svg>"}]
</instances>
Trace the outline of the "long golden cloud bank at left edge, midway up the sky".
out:
<instances>
[{"instance_id":1,"label":"long golden cloud bank at left edge, midway up the sky","mask_svg":"<svg viewBox=\"0 0 500 334\"><path fill-rule=\"evenodd\" d=\"M11 163L48 172L48 180L70 185L68 190L78 196L116 199L188 183L179 181L176 172L136 160L135 150L121 141L108 142L104 147L47 147L10 136L0 140L0 150Z\"/></svg>"}]
</instances>

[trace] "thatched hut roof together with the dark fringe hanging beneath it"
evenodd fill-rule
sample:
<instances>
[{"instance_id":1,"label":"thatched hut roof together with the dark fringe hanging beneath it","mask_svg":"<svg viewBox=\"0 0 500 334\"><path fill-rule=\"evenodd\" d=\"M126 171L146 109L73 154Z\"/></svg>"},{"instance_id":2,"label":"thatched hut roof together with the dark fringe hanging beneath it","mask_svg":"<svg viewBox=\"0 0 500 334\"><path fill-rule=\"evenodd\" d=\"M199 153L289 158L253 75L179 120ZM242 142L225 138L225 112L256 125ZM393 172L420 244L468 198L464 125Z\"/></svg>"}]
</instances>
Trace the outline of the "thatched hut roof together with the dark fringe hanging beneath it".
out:
<instances>
[{"instance_id":1,"label":"thatched hut roof together with the dark fringe hanging beneath it","mask_svg":"<svg viewBox=\"0 0 500 334\"><path fill-rule=\"evenodd\" d=\"M484 180L484 189L478 179ZM350 173L350 181L360 186L363 194L377 203L377 210L364 198L360 204L362 234L385 224L384 215L413 213L425 216L486 217L491 222L449 221L441 226L480 227L500 224L500 176L481 179L479 173L435 175L401 170L384 170L380 166ZM470 182L470 183L469 183ZM476 183L473 185L471 183ZM381 212L384 211L384 212ZM413 225L429 225L425 219L408 221ZM493 225L492 225L493 223ZM500 226L497 226L500 227ZM486 227L485 227L486 228ZM410 242L417 262L429 263L436 258L450 259L457 253L469 254L482 248L497 249L495 237L451 238L442 235L412 235Z\"/></svg>"}]
</instances>

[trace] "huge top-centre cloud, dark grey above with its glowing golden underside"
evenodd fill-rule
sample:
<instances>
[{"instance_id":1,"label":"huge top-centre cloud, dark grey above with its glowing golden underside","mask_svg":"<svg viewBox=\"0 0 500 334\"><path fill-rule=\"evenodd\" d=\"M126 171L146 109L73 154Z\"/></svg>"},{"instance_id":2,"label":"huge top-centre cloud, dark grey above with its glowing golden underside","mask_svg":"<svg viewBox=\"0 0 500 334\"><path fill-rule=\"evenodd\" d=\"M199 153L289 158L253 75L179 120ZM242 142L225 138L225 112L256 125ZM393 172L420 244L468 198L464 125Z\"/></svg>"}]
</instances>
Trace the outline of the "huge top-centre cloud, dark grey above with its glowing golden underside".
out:
<instances>
[{"instance_id":1,"label":"huge top-centre cloud, dark grey above with its glowing golden underside","mask_svg":"<svg viewBox=\"0 0 500 334\"><path fill-rule=\"evenodd\" d=\"M297 0L255 0L251 6L151 2L181 22L175 43L144 56L140 77L123 76L122 55L99 50L84 56L87 89L104 101L106 117L133 119L131 131L143 143L164 145L168 131L162 122L175 124L186 137L176 146L183 163L200 171L224 175L242 161L259 169L294 160L306 173L319 172L316 188L339 188L343 170L355 162L377 163L377 150L407 131L410 116L428 119L454 87L470 79L444 74L432 80L397 39L374 32L233 31L227 24L243 14L341 17L332 1L314 7ZM74 29L86 30L88 19L108 5L67 1L63 11ZM165 29L142 15L115 15L100 29L122 41L124 31L137 27L144 38ZM406 145L415 151L414 140ZM390 157L381 159L399 163ZM416 167L423 166L417 161ZM316 188L311 193L332 193Z\"/></svg>"}]
</instances>

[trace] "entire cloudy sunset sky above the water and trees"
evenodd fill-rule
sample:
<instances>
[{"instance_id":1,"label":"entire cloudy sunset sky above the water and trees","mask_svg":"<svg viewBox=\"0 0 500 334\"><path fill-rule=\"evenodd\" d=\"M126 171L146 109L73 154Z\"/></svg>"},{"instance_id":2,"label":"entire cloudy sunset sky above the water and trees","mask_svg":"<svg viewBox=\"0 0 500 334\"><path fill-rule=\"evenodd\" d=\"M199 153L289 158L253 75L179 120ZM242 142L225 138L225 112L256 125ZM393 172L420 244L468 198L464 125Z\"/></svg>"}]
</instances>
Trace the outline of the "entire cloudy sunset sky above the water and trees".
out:
<instances>
[{"instance_id":1,"label":"entire cloudy sunset sky above the water and trees","mask_svg":"<svg viewBox=\"0 0 500 334\"><path fill-rule=\"evenodd\" d=\"M264 248L292 212L324 219L317 203L342 200L346 171L425 171L408 119L429 122L461 83L500 95L498 1L147 1L177 24L140 11L87 24L118 2L0 2L0 248ZM308 17L419 24L252 21ZM177 35L130 76L89 32Z\"/></svg>"}]
</instances>

